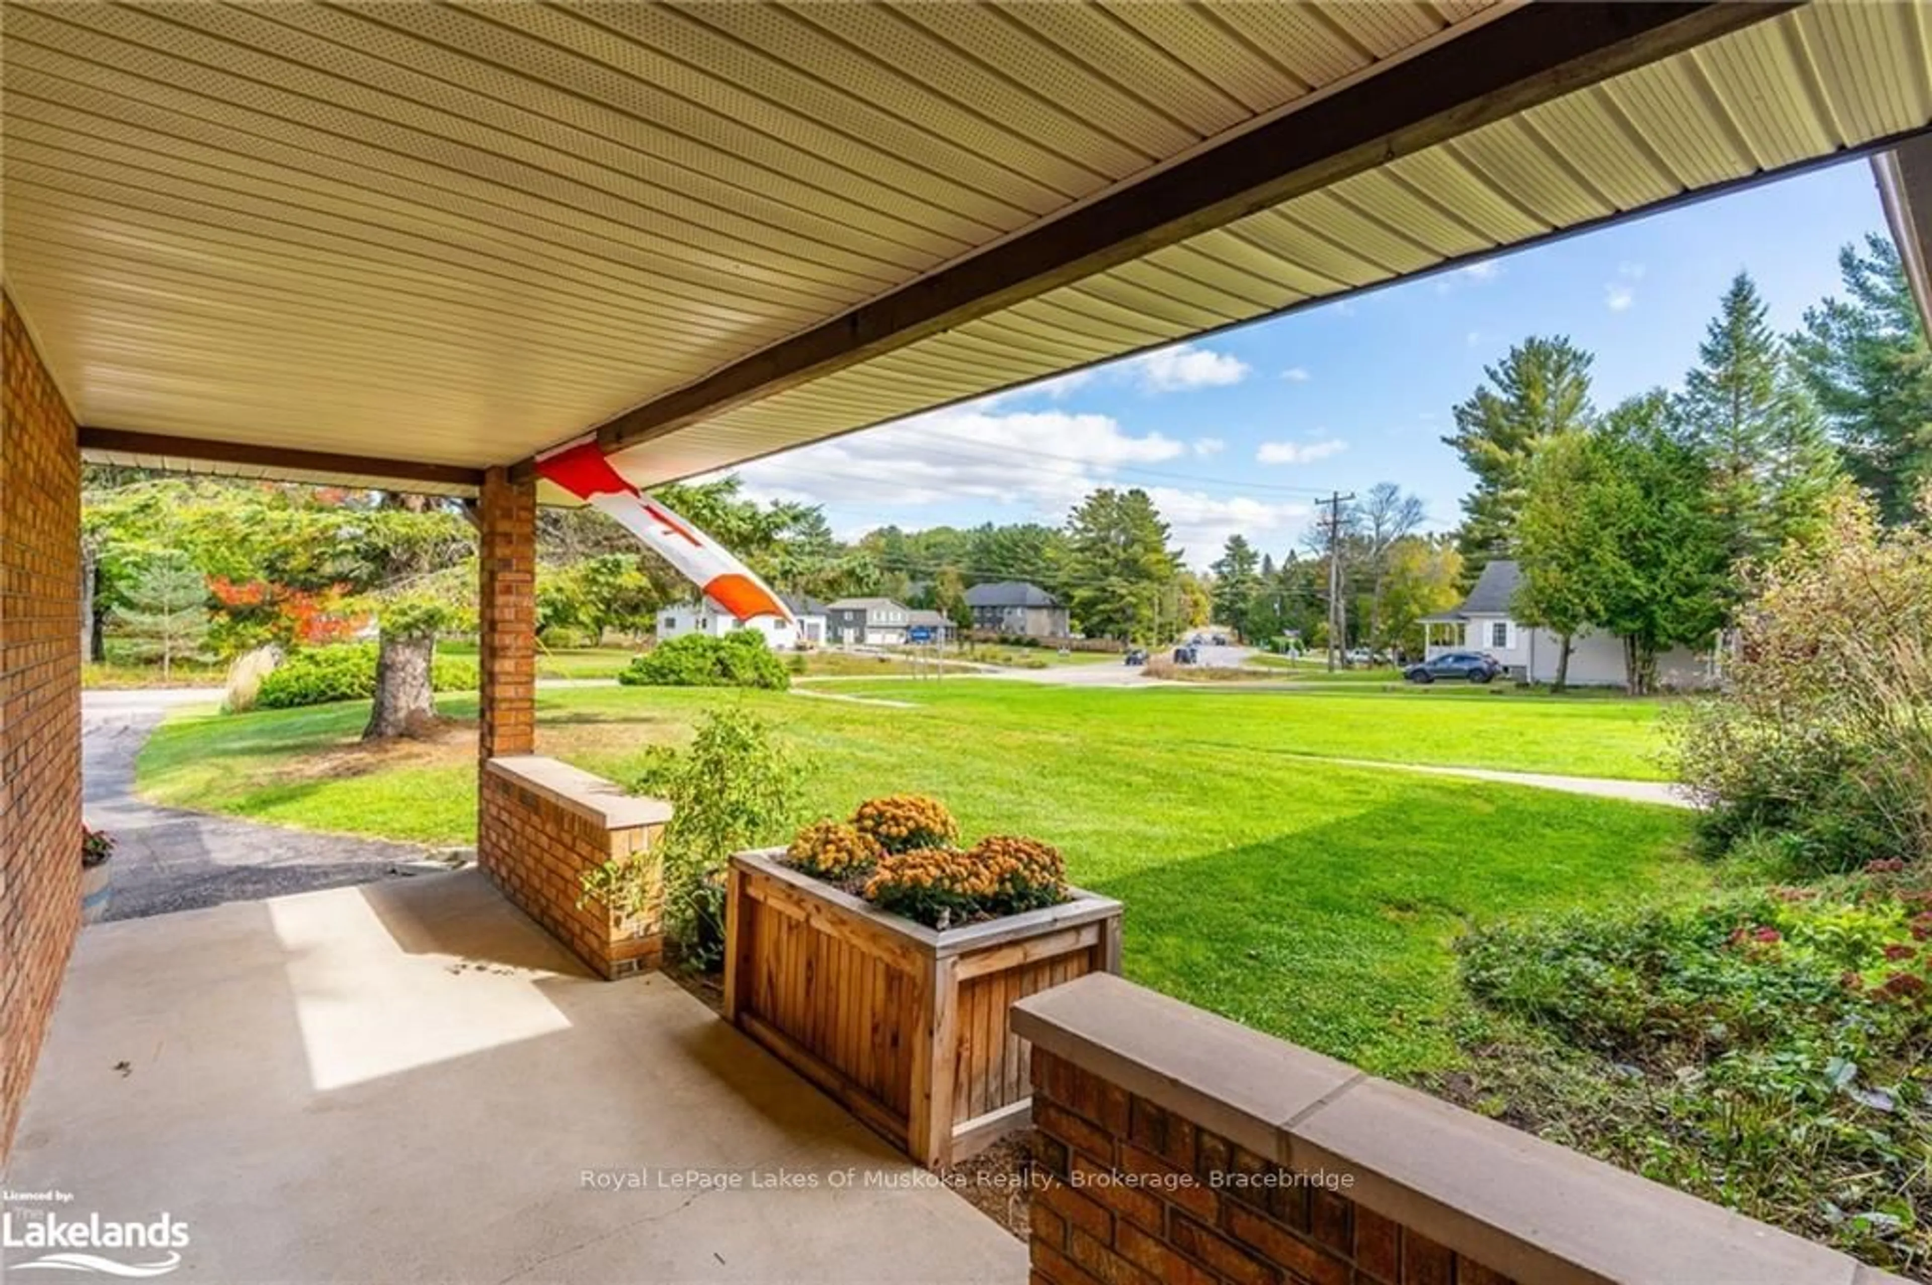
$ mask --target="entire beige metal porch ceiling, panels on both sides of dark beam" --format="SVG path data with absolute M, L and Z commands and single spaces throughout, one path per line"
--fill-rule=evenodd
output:
M 1515 19 L 1492 15 L 14 2 L 6 280 L 83 423 L 498 464 Z M 641 443 L 639 481 L 707 471 L 1861 149 L 1932 120 L 1926 25 L 1859 0 L 1756 21 L 609 441 Z

